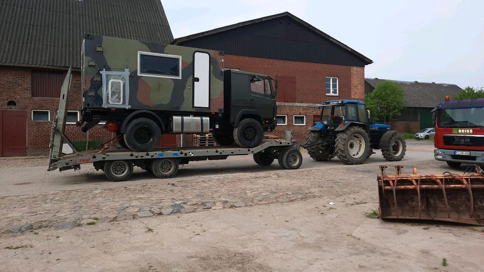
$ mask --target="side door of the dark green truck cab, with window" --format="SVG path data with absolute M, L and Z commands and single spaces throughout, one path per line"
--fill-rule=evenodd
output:
M 250 108 L 257 110 L 262 119 L 273 119 L 275 100 L 272 98 L 268 79 L 251 79 Z

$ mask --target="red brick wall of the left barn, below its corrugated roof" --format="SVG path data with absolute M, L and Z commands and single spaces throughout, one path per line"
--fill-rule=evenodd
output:
M 7 102 L 17 103 L 16 109 L 27 111 L 27 155 L 45 155 L 48 153 L 50 139 L 50 122 L 34 122 L 31 111 L 49 110 L 53 120 L 59 105 L 58 98 L 32 97 L 31 69 L 15 66 L 0 66 L 0 108 L 7 109 Z M 71 91 L 69 93 L 69 110 L 81 109 L 81 74 L 73 72 Z M 87 134 L 75 125 L 67 125 L 66 134 L 72 141 L 86 141 Z M 107 141 L 111 132 L 97 125 L 89 130 L 90 141 Z

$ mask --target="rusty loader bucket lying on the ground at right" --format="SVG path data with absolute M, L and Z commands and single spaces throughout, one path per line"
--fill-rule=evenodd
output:
M 419 219 L 484 226 L 484 173 L 386 174 L 380 166 L 378 191 L 382 219 Z

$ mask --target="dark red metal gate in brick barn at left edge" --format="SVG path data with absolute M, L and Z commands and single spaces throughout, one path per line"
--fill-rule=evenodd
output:
M 27 156 L 27 111 L 0 110 L 0 155 Z

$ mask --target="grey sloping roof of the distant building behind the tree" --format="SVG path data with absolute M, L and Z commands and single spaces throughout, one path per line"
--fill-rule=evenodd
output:
M 384 79 L 365 79 L 373 89 L 375 89 L 378 83 L 386 81 Z M 405 89 L 405 102 L 406 107 L 416 108 L 435 108 L 437 103 L 443 101 L 446 95 L 453 97 L 458 95 L 463 90 L 455 84 L 444 83 L 427 83 L 417 81 L 397 81 L 388 80 L 400 84 Z M 368 91 L 368 90 L 366 90 Z

